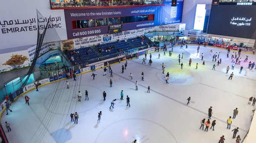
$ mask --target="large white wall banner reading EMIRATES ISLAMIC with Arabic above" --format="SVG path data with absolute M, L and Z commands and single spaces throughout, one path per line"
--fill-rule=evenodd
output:
M 45 42 L 67 39 L 64 10 L 53 11 L 49 5 L 49 0 L 15 0 L 2 3 L 0 9 L 5 12 L 0 14 L 0 39 L 5 42 L 1 43 L 0 50 L 35 45 L 38 30 L 44 29 L 55 31 L 46 33 Z M 49 25 L 46 26 L 48 21 Z

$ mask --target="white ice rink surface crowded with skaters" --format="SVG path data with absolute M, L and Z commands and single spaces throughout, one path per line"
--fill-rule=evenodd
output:
M 231 70 L 231 59 L 227 50 L 222 48 L 200 47 L 197 53 L 196 45 L 186 49 L 174 47 L 174 53 L 166 56 L 163 50 L 158 58 L 158 52 L 152 53 L 152 66 L 142 64 L 145 56 L 128 61 L 127 69 L 122 72 L 125 62 L 111 65 L 113 77 L 103 69 L 77 76 L 77 81 L 66 79 L 45 85 L 26 93 L 30 100 L 25 104 L 23 95 L 15 101 L 10 109 L 13 112 L 3 114 L 1 123 L 11 124 L 12 132 L 6 132 L 9 143 L 218 143 L 224 135 L 225 143 L 235 143 L 232 139 L 232 129 L 239 127 L 241 139 L 250 128 L 250 120 L 255 107 L 247 105 L 248 99 L 255 94 L 256 73 L 250 70 L 244 76 L 248 62 L 243 62 L 245 56 L 249 61 L 256 62 L 256 56 L 241 53 L 242 62 Z M 221 52 L 222 62 L 212 62 L 213 53 Z M 231 57 L 230 51 L 229 56 Z M 238 52 L 238 51 L 235 51 Z M 178 64 L 178 54 L 184 53 L 183 70 Z M 202 65 L 201 54 L 204 53 L 205 65 Z M 189 59 L 192 66 L 189 67 Z M 165 64 L 165 74 L 161 64 Z M 198 69 L 195 64 L 198 63 Z M 213 64 L 216 65 L 212 70 Z M 239 74 L 241 65 L 244 69 Z M 229 73 L 226 68 L 230 66 Z M 141 73 L 144 73 L 144 81 Z M 169 84 L 165 82 L 166 73 L 170 73 Z M 232 80 L 228 80 L 234 72 Z M 97 76 L 95 80 L 92 73 Z M 133 79 L 130 77 L 133 74 Z M 113 80 L 113 87 L 109 81 Z M 66 88 L 70 82 L 70 89 Z M 138 91 L 135 90 L 138 81 Z M 150 93 L 147 87 L 150 86 Z M 85 90 L 89 101 L 85 101 Z M 125 100 L 120 100 L 123 90 L 124 99 L 130 97 L 131 107 Z M 81 91 L 81 102 L 77 102 L 78 91 Z M 102 93 L 107 93 L 106 101 L 102 101 Z M 189 105 L 186 99 L 191 97 Z M 116 100 L 114 109 L 109 109 L 111 101 Z M 208 118 L 208 109 L 212 106 L 212 119 L 216 120 L 215 131 L 204 132 L 199 129 L 203 118 Z M 239 114 L 233 119 L 231 129 L 227 129 L 227 118 L 233 116 L 233 110 L 238 108 Z M 102 111 L 101 122 L 98 112 Z M 78 112 L 78 124 L 70 122 L 70 113 Z M 204 126 L 205 127 L 205 126 Z

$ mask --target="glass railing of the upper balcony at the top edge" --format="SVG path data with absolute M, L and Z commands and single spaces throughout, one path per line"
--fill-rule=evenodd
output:
M 148 0 L 148 1 L 140 1 L 140 0 L 106 0 L 106 1 L 93 1 L 93 0 L 79 0 L 79 1 L 51 1 L 52 8 L 61 8 L 61 7 L 94 7 L 94 6 L 140 6 L 140 5 L 162 5 L 162 0 Z

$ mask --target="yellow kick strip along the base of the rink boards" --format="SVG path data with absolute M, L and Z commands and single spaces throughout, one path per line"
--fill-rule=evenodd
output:
M 188 44 L 188 45 L 198 45 L 198 44 Z M 179 46 L 179 45 L 173 45 L 173 46 L 175 47 L 175 46 Z M 221 47 L 214 47 L 214 46 L 209 46 L 209 45 L 207 45 L 207 47 L 224 49 L 224 48 L 221 48 Z M 170 48 L 170 46 L 167 47 L 167 48 Z M 163 50 L 163 49 L 159 49 L 159 50 Z M 230 50 L 232 50 L 232 49 L 230 49 Z M 233 50 L 233 51 L 237 51 L 237 50 Z M 156 52 L 156 51 L 154 51 L 154 52 Z M 154 52 L 151 52 L 151 53 L 154 53 Z M 242 52 L 242 53 L 250 53 L 250 52 L 244 52 L 244 51 L 241 51 L 241 52 Z M 250 54 L 253 54 L 253 53 L 250 53 Z M 140 56 L 144 56 L 144 55 L 140 55 Z M 134 58 L 135 58 L 135 57 L 133 57 L 132 59 L 134 59 Z M 125 62 L 125 60 L 124 60 L 124 61 L 120 61 L 120 62 Z M 118 63 L 119 63 L 119 62 L 116 62 L 116 63 L 110 64 L 110 65 L 114 65 L 114 64 L 118 64 Z M 103 68 L 104 68 L 104 67 L 108 67 L 108 66 L 103 66 Z M 96 68 L 95 70 L 99 70 L 99 69 L 101 69 L 101 67 Z M 91 70 L 86 71 L 86 72 L 83 72 L 83 73 L 79 73 L 79 74 L 77 74 L 77 76 L 78 76 L 78 75 L 81 75 L 81 74 L 84 74 L 84 73 L 88 73 L 88 72 L 90 72 L 90 71 L 91 71 Z M 67 78 L 64 78 L 64 79 L 67 79 Z M 51 83 L 54 83 L 54 82 L 57 82 L 57 81 L 61 81 L 61 80 L 64 80 L 64 79 L 59 79 L 59 80 L 56 80 L 56 81 L 52 81 L 52 82 L 49 82 L 49 83 L 46 83 L 46 84 L 43 84 L 43 85 L 39 85 L 38 87 L 42 87 L 42 86 L 44 86 L 44 85 L 51 84 Z M 32 88 L 32 89 L 30 89 L 30 90 L 27 90 L 26 92 L 24 92 L 24 93 L 20 94 L 19 96 L 17 96 L 14 100 L 17 100 L 17 98 L 19 98 L 19 97 L 22 96 L 23 94 L 28 93 L 29 91 L 34 90 L 34 89 L 35 89 L 35 87 Z M 5 101 L 6 101 L 6 100 L 5 100 Z M 1 103 L 1 106 L 2 106 L 2 104 L 4 104 L 5 101 L 3 101 L 3 102 Z M 11 103 L 12 103 L 12 102 L 11 102 Z M 6 110 L 6 107 L 4 107 L 3 110 L 2 110 L 2 112 L 1 112 L 0 120 L 1 120 L 2 115 L 3 115 L 3 112 L 4 112 L 5 110 Z

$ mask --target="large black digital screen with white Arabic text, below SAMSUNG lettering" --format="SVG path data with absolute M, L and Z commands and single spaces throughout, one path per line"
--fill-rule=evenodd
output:
M 256 6 L 212 5 L 208 34 L 256 39 Z

